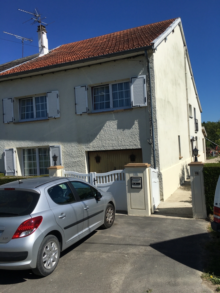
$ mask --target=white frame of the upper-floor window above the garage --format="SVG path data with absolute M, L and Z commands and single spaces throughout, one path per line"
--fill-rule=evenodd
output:
M 106 112 L 106 111 L 112 111 L 112 110 L 120 110 L 120 109 L 129 109 L 129 108 L 132 108 L 131 105 L 113 108 L 112 85 L 113 84 L 121 84 L 121 83 L 124 83 L 124 82 L 129 82 L 130 102 L 131 102 L 131 84 L 130 84 L 130 78 L 123 79 L 121 81 L 114 81 L 114 82 L 99 84 L 99 85 L 96 85 L 96 86 L 91 86 L 91 92 L 92 92 L 92 113 Z M 99 88 L 99 87 L 104 87 L 104 86 L 109 86 L 110 108 L 108 108 L 108 109 L 101 109 L 101 110 L 94 110 L 94 88 Z

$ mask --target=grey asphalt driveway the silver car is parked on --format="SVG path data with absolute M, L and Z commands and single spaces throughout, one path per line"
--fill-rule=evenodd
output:
M 0 271 L 0 292 L 153 293 L 212 292 L 200 279 L 207 222 L 116 215 L 62 253 L 55 272 Z

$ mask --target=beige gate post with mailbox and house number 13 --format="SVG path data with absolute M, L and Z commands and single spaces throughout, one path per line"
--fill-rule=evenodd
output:
M 124 166 L 128 214 L 150 216 L 150 180 L 148 163 L 129 163 Z

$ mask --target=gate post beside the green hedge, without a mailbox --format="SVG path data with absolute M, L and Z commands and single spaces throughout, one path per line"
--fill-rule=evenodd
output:
M 202 162 L 191 162 L 188 164 L 190 169 L 190 181 L 192 191 L 192 213 L 195 219 L 206 219 L 206 202 L 204 193 L 204 179 Z

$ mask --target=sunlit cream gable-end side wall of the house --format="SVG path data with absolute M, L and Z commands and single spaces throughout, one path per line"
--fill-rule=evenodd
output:
M 187 164 L 191 161 L 187 125 L 184 44 L 178 26 L 167 36 L 166 42 L 164 40 L 158 45 L 154 54 L 154 69 L 160 171 L 163 175 L 163 197 L 166 200 L 189 176 Z M 188 63 L 187 81 L 189 103 L 191 101 L 191 105 L 196 108 L 199 124 L 199 132 L 196 134 L 198 147 L 199 150 L 202 150 L 201 114 Z M 192 122 L 193 128 L 191 127 L 190 133 L 195 137 L 194 120 Z M 179 158 L 178 135 L 181 143 L 181 159 Z

